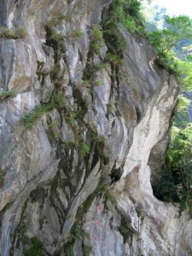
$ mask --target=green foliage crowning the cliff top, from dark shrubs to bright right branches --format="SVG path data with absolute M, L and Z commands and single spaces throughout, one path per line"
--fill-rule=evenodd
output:
M 138 0 L 115 0 L 110 9 L 110 17 L 107 24 L 108 33 L 113 34 L 116 38 L 115 44 L 121 49 L 125 40 L 120 35 L 118 25 L 123 25 L 129 32 L 137 36 L 143 35 L 148 37 L 151 44 L 155 46 L 158 52 L 157 64 L 160 67 L 166 68 L 169 73 L 173 73 L 179 79 L 182 90 L 192 89 L 192 72 L 191 58 L 179 59 L 178 45 L 184 40 L 192 39 L 192 20 L 186 15 L 170 17 L 165 15 L 162 19 L 162 12 L 165 9 L 160 9 L 160 14 L 156 10 L 156 20 L 162 23 L 162 29 L 157 29 L 158 23 L 154 22 L 153 30 L 148 31 L 150 26 L 143 15 L 143 1 Z M 150 2 L 150 1 L 148 1 Z M 96 32 L 96 30 L 95 30 Z M 99 34 L 100 35 L 100 34 Z M 112 39 L 112 38 L 111 38 Z M 99 42 L 102 42 L 102 35 Z M 181 44 L 182 45 L 182 44 Z M 175 50 L 177 49 L 177 51 Z M 185 51 L 187 49 L 184 49 Z M 182 49 L 180 50 L 180 52 Z M 115 60 L 116 61 L 116 60 Z

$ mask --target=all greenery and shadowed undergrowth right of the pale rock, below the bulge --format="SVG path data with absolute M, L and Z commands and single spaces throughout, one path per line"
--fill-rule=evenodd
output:
M 184 96 L 179 96 L 166 164 L 154 183 L 154 195 L 160 200 L 179 202 L 180 211 L 186 210 L 192 215 L 192 125 L 187 116 L 189 103 Z

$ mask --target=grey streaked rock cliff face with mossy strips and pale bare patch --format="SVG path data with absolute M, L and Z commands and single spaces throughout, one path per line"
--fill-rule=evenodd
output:
M 191 220 L 150 183 L 177 80 L 121 26 L 123 58 L 108 55 L 119 46 L 101 38 L 111 3 L 0 2 L 3 256 L 192 254 Z

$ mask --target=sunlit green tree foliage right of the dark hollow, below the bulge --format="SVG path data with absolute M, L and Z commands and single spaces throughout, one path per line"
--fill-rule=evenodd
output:
M 182 210 L 192 214 L 192 125 L 172 128 L 172 140 L 166 153 L 166 173 L 174 179 L 174 193 Z

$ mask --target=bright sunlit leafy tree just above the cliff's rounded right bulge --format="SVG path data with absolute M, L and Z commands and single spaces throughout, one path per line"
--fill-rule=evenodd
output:
M 169 73 L 177 76 L 182 90 L 191 90 L 191 60 L 186 57 L 181 60 L 178 57 L 178 44 L 183 40 L 192 39 L 192 20 L 185 15 L 177 17 L 166 15 L 164 28 L 149 32 L 148 39 L 157 49 L 159 66 L 165 67 Z

